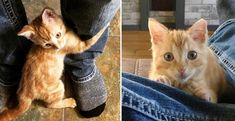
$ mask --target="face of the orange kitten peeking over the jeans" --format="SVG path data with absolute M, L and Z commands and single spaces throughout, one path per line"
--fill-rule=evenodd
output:
M 188 31 L 171 31 L 150 19 L 153 63 L 158 74 L 186 82 L 203 73 L 208 51 L 206 26 L 205 20 L 199 20 Z

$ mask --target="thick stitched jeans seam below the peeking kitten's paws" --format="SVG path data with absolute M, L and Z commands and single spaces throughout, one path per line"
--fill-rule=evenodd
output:
M 152 104 L 150 104 L 151 107 L 150 108 L 148 107 L 148 112 L 146 112 L 144 110 L 143 102 L 147 101 L 147 100 L 144 100 L 144 97 L 138 95 L 139 97 L 141 97 L 142 103 L 140 103 L 140 104 L 142 106 L 138 105 L 138 107 L 136 107 L 132 104 L 133 100 L 134 100 L 133 99 L 134 96 L 131 96 L 131 95 L 136 95 L 137 96 L 137 94 L 134 94 L 134 92 L 133 92 L 133 94 L 131 94 L 132 91 L 128 90 L 128 91 L 130 91 L 130 92 L 128 92 L 128 91 L 125 91 L 125 90 L 128 90 L 128 89 L 123 87 L 122 100 L 123 100 L 124 96 L 127 96 L 127 97 L 129 97 L 129 100 L 130 100 L 131 103 L 128 104 L 128 102 L 125 103 L 123 101 L 122 106 L 134 109 L 134 110 L 136 110 L 140 113 L 143 113 L 143 114 L 145 114 L 145 115 L 147 115 L 147 116 L 149 116 L 149 117 L 151 117 L 155 120 L 162 120 L 161 118 L 163 118 L 163 117 L 166 118 L 166 119 L 171 119 L 171 120 L 175 119 L 175 120 L 182 120 L 182 121 L 184 121 L 184 120 L 202 120 L 202 119 L 204 119 L 203 117 L 198 116 L 198 115 L 189 115 L 189 114 L 185 114 L 183 112 L 177 112 L 176 113 L 175 111 L 167 110 L 167 109 L 161 109 L 161 111 L 159 111 L 160 108 L 157 107 L 156 105 L 154 105 L 153 102 L 152 102 Z M 128 93 L 130 93 L 130 94 L 128 94 Z M 137 102 L 141 102 L 141 101 L 137 101 Z M 147 101 L 147 103 L 151 103 L 151 101 Z M 155 115 L 153 115 L 153 112 L 154 112 Z

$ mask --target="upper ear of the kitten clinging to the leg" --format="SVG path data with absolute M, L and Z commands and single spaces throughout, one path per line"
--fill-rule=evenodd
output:
M 56 18 L 57 14 L 53 9 L 45 8 L 42 12 L 42 21 L 44 24 L 49 24 Z

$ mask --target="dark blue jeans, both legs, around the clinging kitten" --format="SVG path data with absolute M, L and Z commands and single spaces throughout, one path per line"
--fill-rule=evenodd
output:
M 111 21 L 119 4 L 119 0 L 61 0 L 61 13 L 66 25 L 86 40 Z M 0 0 L 0 85 L 13 86 L 21 78 L 22 66 L 32 43 L 16 33 L 26 24 L 21 0 Z M 92 73 L 94 59 L 102 53 L 107 37 L 108 30 L 86 52 L 66 57 L 65 68 L 74 79 Z

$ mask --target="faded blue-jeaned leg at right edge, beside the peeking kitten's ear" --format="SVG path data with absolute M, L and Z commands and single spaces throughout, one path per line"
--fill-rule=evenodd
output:
M 235 89 L 235 1 L 217 0 L 216 4 L 221 25 L 209 38 L 208 45 L 224 67 L 226 80 Z

